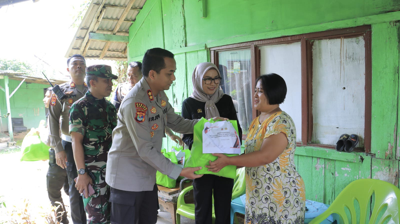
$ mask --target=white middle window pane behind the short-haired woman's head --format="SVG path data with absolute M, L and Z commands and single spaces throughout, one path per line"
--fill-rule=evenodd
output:
M 301 48 L 300 42 L 261 46 L 261 74 L 276 73 L 286 82 L 286 98 L 280 108 L 296 126 L 296 140 L 301 142 Z

